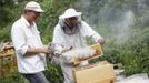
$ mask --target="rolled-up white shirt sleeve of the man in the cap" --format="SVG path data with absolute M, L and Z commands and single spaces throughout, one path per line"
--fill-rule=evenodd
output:
M 13 24 L 11 29 L 11 39 L 17 53 L 24 54 L 28 45 L 26 43 L 26 37 L 20 25 Z

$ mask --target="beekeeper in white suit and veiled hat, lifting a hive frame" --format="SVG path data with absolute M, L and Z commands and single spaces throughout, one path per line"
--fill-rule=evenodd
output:
M 103 44 L 105 40 L 96 31 L 93 31 L 85 21 L 81 21 L 81 12 L 77 12 L 74 9 L 69 8 L 66 12 L 59 17 L 59 22 L 54 28 L 52 43 L 56 44 L 56 52 L 61 53 L 62 51 L 71 49 L 80 49 L 87 46 L 87 38 L 92 41 Z M 82 65 L 88 64 L 87 61 L 81 63 Z M 60 62 L 64 82 L 74 83 L 72 76 L 71 64 Z

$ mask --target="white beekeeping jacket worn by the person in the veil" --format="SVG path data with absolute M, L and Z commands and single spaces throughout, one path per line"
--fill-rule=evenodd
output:
M 57 50 L 85 48 L 87 46 L 87 38 L 91 38 L 95 42 L 102 39 L 102 37 L 93 31 L 85 21 L 79 22 L 79 32 L 72 35 L 66 34 L 62 29 L 63 21 L 63 19 L 60 19 L 53 32 L 52 43 L 57 44 Z

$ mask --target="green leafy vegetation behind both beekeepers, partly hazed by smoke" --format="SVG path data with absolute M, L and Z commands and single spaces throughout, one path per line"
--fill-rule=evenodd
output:
M 0 40 L 11 41 L 11 24 L 20 18 L 30 0 L 0 0 Z M 82 20 L 99 32 L 107 43 L 105 56 L 110 63 L 122 63 L 126 75 L 149 74 L 149 0 L 36 0 L 44 9 L 38 21 L 44 44 L 52 40 L 58 17 L 69 7 L 82 12 Z M 59 65 L 49 63 L 44 72 L 51 83 L 62 83 Z M 23 83 L 17 69 L 2 76 L 1 83 Z

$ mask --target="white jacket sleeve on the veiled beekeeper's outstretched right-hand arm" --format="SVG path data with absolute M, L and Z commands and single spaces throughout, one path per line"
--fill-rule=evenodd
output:
M 102 39 L 102 37 L 99 33 L 97 33 L 95 30 L 92 30 L 91 27 L 88 25 L 83 21 L 82 21 L 81 33 L 83 34 L 83 37 L 91 38 L 95 42 L 98 42 L 98 40 Z

